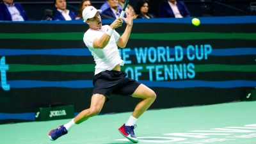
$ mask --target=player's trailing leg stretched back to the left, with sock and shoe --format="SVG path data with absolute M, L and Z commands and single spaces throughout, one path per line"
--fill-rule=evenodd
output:
M 105 101 L 106 101 L 106 97 L 104 97 L 104 95 L 94 94 L 92 96 L 90 108 L 85 109 L 84 111 L 81 111 L 81 113 L 79 113 L 75 118 L 73 118 L 67 124 L 60 125 L 57 129 L 52 129 L 49 132 L 50 140 L 52 140 L 52 141 L 57 140 L 64 134 L 67 134 L 68 129 L 70 129 L 70 127 L 72 127 L 72 125 L 81 124 L 81 122 L 88 120 L 88 118 L 98 115 L 100 113 Z

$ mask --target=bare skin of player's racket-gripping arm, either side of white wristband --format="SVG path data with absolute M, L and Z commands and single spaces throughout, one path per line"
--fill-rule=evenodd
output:
M 108 31 L 111 31 L 115 28 L 122 26 L 122 23 L 123 23 L 122 19 L 123 18 L 117 18 L 114 22 L 112 22 L 112 24 L 110 25 L 111 29 L 108 29 Z M 104 47 L 108 45 L 110 38 L 111 38 L 111 35 L 104 33 L 104 35 L 102 35 L 100 38 L 95 38 L 93 40 L 93 47 L 95 49 L 104 49 Z

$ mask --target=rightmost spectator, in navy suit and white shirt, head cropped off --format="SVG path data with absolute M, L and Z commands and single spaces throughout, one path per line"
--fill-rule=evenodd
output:
M 190 13 L 183 1 L 168 0 L 161 4 L 160 17 L 190 17 Z

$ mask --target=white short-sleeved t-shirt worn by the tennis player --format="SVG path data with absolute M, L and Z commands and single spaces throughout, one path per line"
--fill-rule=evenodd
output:
M 105 70 L 112 70 L 116 65 L 124 65 L 124 61 L 121 60 L 118 47 L 116 42 L 119 40 L 120 35 L 114 30 L 113 35 L 111 36 L 108 45 L 104 49 L 95 49 L 93 47 L 93 40 L 104 35 L 104 33 L 110 29 L 108 25 L 102 26 L 101 29 L 93 30 L 88 29 L 84 33 L 84 44 L 88 47 L 89 51 L 92 53 L 95 66 L 95 74 L 104 72 Z

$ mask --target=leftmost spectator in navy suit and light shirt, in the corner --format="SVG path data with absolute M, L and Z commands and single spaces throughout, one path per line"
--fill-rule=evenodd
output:
M 21 4 L 13 3 L 13 0 L 3 0 L 0 4 L 0 20 L 24 21 L 29 20 L 28 15 Z

